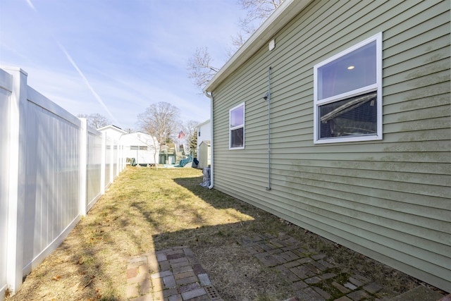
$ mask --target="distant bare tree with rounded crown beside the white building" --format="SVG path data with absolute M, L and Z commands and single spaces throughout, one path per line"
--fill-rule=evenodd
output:
M 156 156 L 156 149 L 172 140 L 177 133 L 180 110 L 168 102 L 157 102 L 151 104 L 144 113 L 137 116 L 140 129 L 156 139 L 153 141 Z M 155 161 L 155 166 L 157 166 Z

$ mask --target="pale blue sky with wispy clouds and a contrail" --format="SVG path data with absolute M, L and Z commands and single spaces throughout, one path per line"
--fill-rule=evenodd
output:
M 227 61 L 245 11 L 235 0 L 0 0 L 0 66 L 72 113 L 100 113 L 120 128 L 168 102 L 183 121 L 209 118 L 209 99 L 187 77 L 208 47 Z

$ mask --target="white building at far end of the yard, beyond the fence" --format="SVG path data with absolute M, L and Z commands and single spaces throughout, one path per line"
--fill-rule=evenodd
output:
M 158 161 L 160 147 L 152 135 L 135 132 L 121 135 L 119 142 L 124 147 L 124 157 L 128 159 L 127 164 L 135 159 L 136 164 L 155 164 Z

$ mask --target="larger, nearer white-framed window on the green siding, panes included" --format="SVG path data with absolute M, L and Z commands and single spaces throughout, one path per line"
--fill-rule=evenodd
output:
M 382 139 L 382 34 L 314 66 L 314 142 Z

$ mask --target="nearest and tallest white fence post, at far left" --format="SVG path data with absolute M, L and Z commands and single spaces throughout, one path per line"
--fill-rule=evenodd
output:
M 6 238 L 6 285 L 16 293 L 23 277 L 23 229 L 25 212 L 25 106 L 27 73 L 20 68 L 5 68 L 13 75 L 9 110 L 9 185 L 8 234 Z

